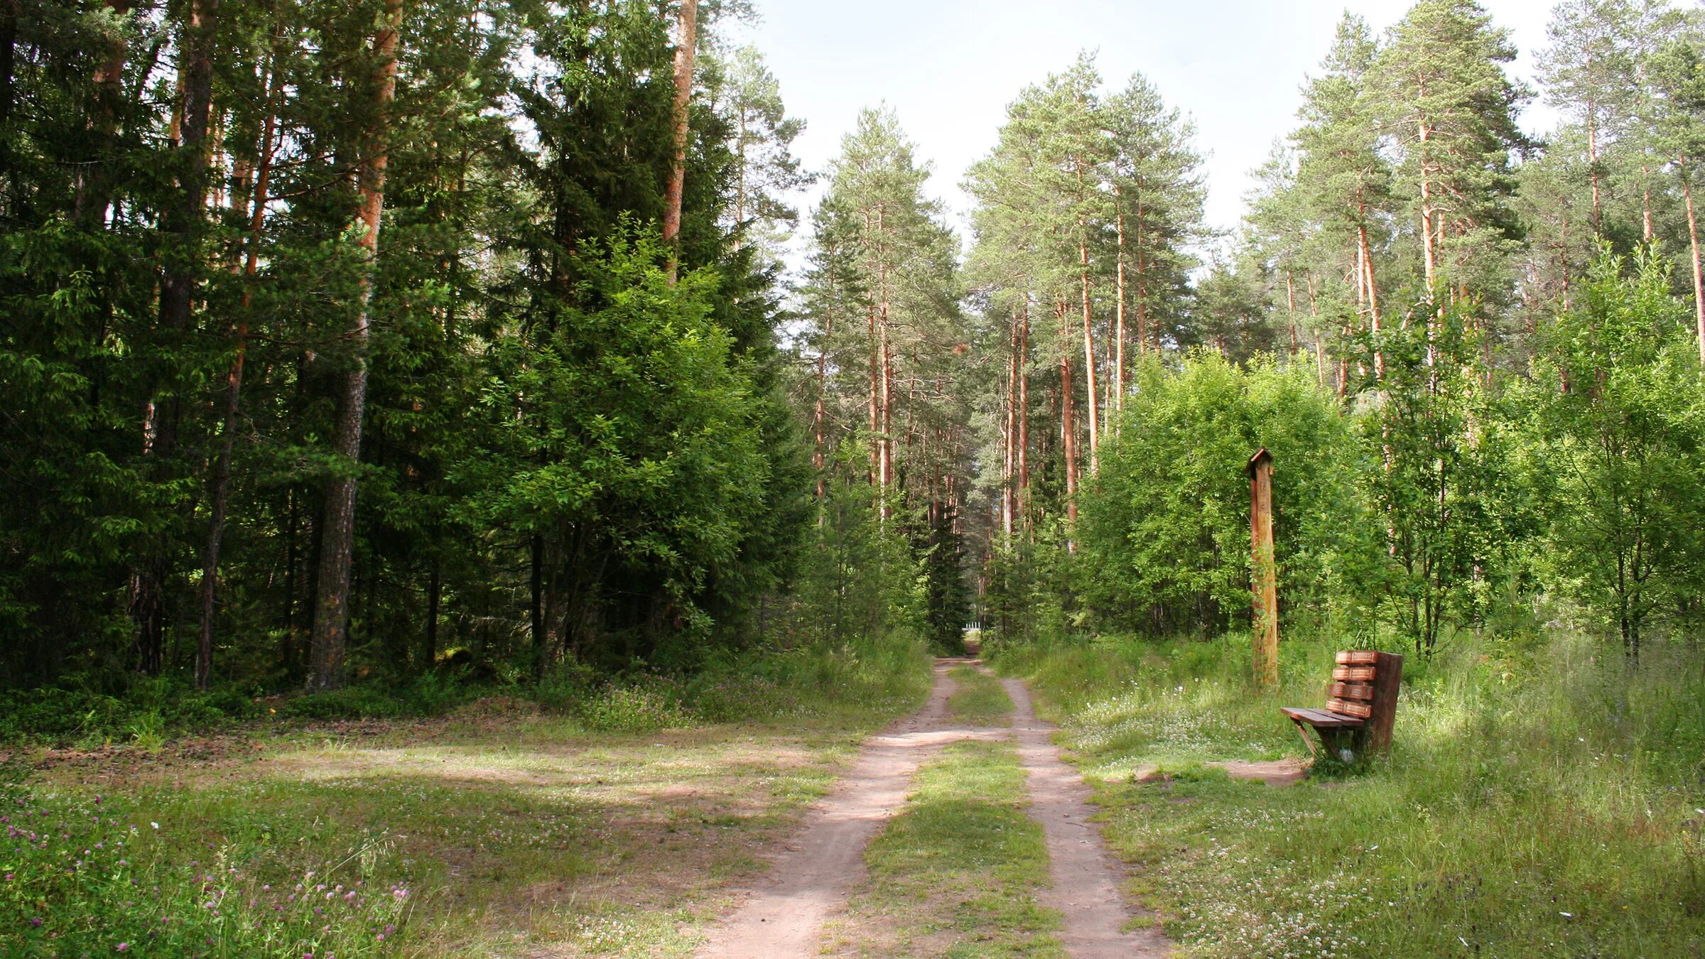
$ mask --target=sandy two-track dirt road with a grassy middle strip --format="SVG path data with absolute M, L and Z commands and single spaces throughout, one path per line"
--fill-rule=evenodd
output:
M 815 956 L 824 921 L 844 908 L 864 875 L 864 850 L 905 807 L 912 775 L 946 744 L 965 739 L 1016 741 L 1030 792 L 1028 814 L 1043 831 L 1049 887 L 1040 904 L 1062 916 L 1059 940 L 1074 957 L 1166 956 L 1158 930 L 1125 933 L 1130 920 L 1118 872 L 1089 821 L 1089 788 L 1054 746 L 1052 727 L 1037 718 L 1023 683 L 1003 683 L 1013 700 L 1008 727 L 972 727 L 948 710 L 955 683 L 948 671 L 965 659 L 941 659 L 922 710 L 873 735 L 844 780 L 817 804 L 784 843 L 769 874 L 737 894 L 735 911 L 697 952 L 701 959 L 796 959 Z

